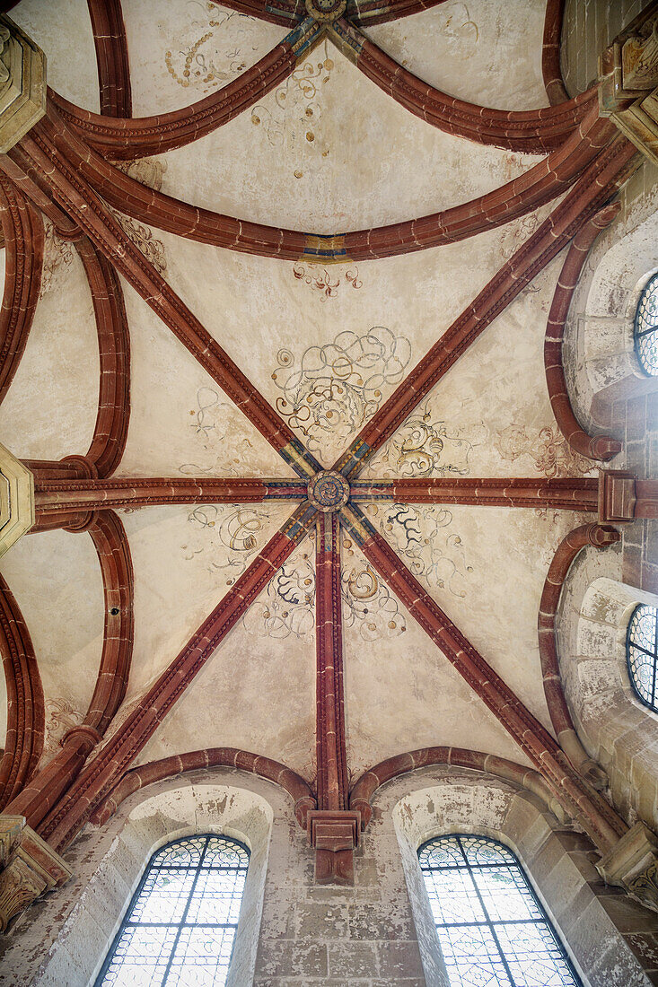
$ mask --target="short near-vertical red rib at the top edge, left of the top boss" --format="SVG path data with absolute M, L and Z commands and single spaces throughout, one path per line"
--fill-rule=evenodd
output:
M 130 116 L 130 68 L 121 0 L 87 0 L 96 45 L 101 113 Z

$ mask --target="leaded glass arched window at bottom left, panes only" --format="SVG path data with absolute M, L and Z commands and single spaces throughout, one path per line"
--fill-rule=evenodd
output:
M 153 854 L 96 987 L 223 987 L 249 851 L 191 836 Z

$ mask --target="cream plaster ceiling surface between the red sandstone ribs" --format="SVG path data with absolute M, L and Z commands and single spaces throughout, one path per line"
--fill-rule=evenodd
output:
M 488 0 L 449 2 L 371 29 L 371 37 L 449 93 L 494 107 L 531 109 L 546 104 L 540 73 L 543 10 L 542 0 L 511 0 L 495 12 Z M 285 35 L 241 15 L 229 17 L 201 0 L 123 0 L 123 11 L 135 115 L 201 99 Z M 85 0 L 23 0 L 12 17 L 44 48 L 53 88 L 97 110 Z M 182 86 L 176 76 L 182 77 L 187 54 L 206 35 L 195 49 L 200 57 L 193 59 L 191 84 Z M 457 204 L 510 181 L 537 160 L 432 128 L 381 93 L 330 44 L 325 50 L 322 42 L 308 64 L 284 87 L 284 100 L 271 93 L 253 113 L 186 148 L 131 165 L 129 173 L 229 215 L 337 232 Z M 368 391 L 369 378 L 355 357 L 354 404 L 348 408 L 337 399 L 331 429 L 314 425 L 306 434 L 290 422 L 329 465 L 546 212 L 464 243 L 327 268 L 241 256 L 156 229 L 136 229 L 140 224 L 133 223 L 131 232 L 137 241 L 149 241 L 174 290 L 282 414 L 291 387 L 301 393 L 312 387 L 312 360 L 304 355 L 310 347 L 326 347 L 325 354 L 343 347 L 354 356 L 370 334 L 370 343 L 374 340 L 383 354 L 377 395 Z M 428 429 L 444 441 L 432 475 L 442 475 L 446 467 L 464 476 L 550 476 L 587 468 L 565 451 L 543 379 L 541 345 L 559 264 L 553 262 L 535 279 L 419 409 Z M 118 474 L 290 476 L 183 345 L 128 285 L 123 288 L 132 409 Z M 306 372 L 295 377 L 300 368 Z M 2 441 L 24 457 L 85 452 L 97 387 L 98 346 L 84 271 L 70 246 L 49 234 L 35 324 L 0 409 Z M 367 476 L 418 470 L 400 455 L 403 437 L 402 430 L 372 461 Z M 135 576 L 126 704 L 173 659 L 290 510 L 257 504 L 205 512 L 187 507 L 121 512 Z M 390 522 L 383 505 L 373 520 L 381 521 L 383 533 L 403 557 L 406 553 L 449 616 L 548 725 L 536 647 L 538 598 L 554 549 L 581 518 L 494 508 L 413 510 L 426 559 L 414 557 L 416 549 L 401 540 L 404 518 Z M 256 548 L 228 548 L 222 532 L 231 524 L 252 534 Z M 344 544 L 343 554 L 351 772 L 439 743 L 523 761 L 402 605 L 390 603 L 378 581 L 373 588 L 359 551 Z M 63 532 L 30 536 L 3 560 L 2 571 L 33 635 L 46 701 L 52 706 L 66 698 L 71 716 L 81 717 L 102 644 L 102 587 L 91 541 Z M 142 752 L 142 761 L 206 746 L 238 746 L 312 777 L 310 540 L 295 550 L 288 575 L 286 587 L 273 583 L 265 590 L 217 648 Z M 363 593 L 372 601 L 366 614 Z M 400 622 L 405 630 L 398 633 Z

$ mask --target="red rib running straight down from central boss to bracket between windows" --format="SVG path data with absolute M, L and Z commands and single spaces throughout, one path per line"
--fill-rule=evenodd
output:
M 338 516 L 318 511 L 315 539 L 317 807 L 333 810 L 348 807 L 339 537 Z

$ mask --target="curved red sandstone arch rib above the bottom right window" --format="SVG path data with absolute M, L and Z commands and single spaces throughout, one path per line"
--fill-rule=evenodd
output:
M 366 829 L 372 816 L 372 796 L 377 789 L 392 778 L 406 775 L 419 768 L 429 768 L 434 764 L 449 764 L 456 768 L 470 768 L 472 771 L 486 771 L 506 782 L 512 782 L 538 796 L 548 809 L 553 808 L 555 797 L 541 775 L 532 768 L 525 768 L 515 761 L 496 754 L 485 754 L 479 750 L 465 750 L 463 747 L 420 747 L 405 754 L 396 754 L 380 761 L 357 780 L 350 793 L 350 808 L 361 812 L 362 829 Z

